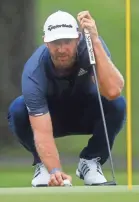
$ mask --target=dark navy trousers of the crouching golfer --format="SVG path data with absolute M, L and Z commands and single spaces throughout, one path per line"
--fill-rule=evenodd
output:
M 92 95 L 86 96 L 84 100 L 85 102 L 73 102 L 72 107 L 68 108 L 67 111 L 63 110 L 61 113 L 52 111 L 54 137 L 72 134 L 93 134 L 87 146 L 81 151 L 80 158 L 92 159 L 100 157 L 100 163 L 104 164 L 109 154 L 96 91 Z M 125 123 L 126 102 L 123 96 L 112 101 L 102 97 L 102 102 L 110 148 L 112 149 L 115 137 Z M 8 123 L 12 133 L 17 136 L 19 142 L 33 154 L 33 164 L 40 162 L 34 145 L 33 133 L 23 96 L 16 98 L 11 103 L 8 111 Z M 67 143 L 67 147 L 69 146 Z

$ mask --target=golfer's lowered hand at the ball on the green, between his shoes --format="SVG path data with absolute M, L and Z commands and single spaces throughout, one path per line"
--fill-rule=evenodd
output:
M 72 177 L 70 175 L 65 174 L 64 172 L 57 171 L 54 174 L 50 175 L 50 181 L 48 183 L 49 186 L 64 186 L 64 180 L 72 181 Z

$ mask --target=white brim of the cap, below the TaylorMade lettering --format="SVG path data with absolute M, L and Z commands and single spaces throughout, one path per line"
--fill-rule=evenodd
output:
M 76 33 L 76 34 L 60 34 L 59 36 L 56 35 L 52 35 L 50 37 L 47 37 L 47 36 L 44 36 L 44 42 L 52 42 L 52 41 L 55 41 L 55 40 L 58 40 L 58 39 L 77 39 L 79 37 L 79 33 Z

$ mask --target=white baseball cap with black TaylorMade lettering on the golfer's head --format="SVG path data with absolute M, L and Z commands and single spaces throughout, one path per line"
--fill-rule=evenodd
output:
M 78 23 L 69 13 L 57 11 L 51 14 L 44 24 L 44 42 L 79 37 Z

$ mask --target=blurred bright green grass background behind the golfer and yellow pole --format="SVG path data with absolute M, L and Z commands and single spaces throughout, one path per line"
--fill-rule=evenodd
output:
M 132 136 L 133 136 L 133 155 L 138 156 L 138 103 L 139 93 L 137 92 L 139 67 L 138 47 L 139 47 L 139 1 L 131 1 L 132 11 Z M 103 37 L 112 55 L 112 60 L 121 73 L 124 75 L 126 82 L 126 50 L 125 50 L 125 0 L 86 0 L 86 1 L 64 1 L 53 0 L 47 3 L 46 0 L 36 1 L 36 41 L 37 44 L 42 42 L 42 29 L 45 19 L 49 14 L 57 10 L 66 10 L 75 17 L 82 10 L 89 10 L 96 20 L 99 35 Z M 123 91 L 125 95 L 125 89 Z M 88 136 L 66 137 L 57 140 L 60 152 L 79 153 L 86 146 Z M 68 148 L 66 144 L 68 143 Z M 113 153 L 117 156 L 126 156 L 126 126 L 116 139 Z

